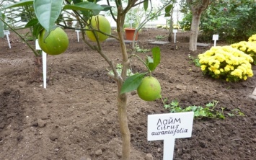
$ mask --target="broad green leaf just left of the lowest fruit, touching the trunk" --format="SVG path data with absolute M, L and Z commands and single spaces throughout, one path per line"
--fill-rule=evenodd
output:
M 141 84 L 142 79 L 144 78 L 145 74 L 134 74 L 133 76 L 129 76 L 124 82 L 121 88 L 120 94 L 131 92 L 136 90 L 138 86 Z

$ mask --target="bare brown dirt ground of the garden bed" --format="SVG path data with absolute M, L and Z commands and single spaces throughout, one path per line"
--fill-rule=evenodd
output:
M 0 39 L 0 159 L 121 159 L 117 85 L 107 76 L 104 59 L 81 40 L 77 42 L 76 32 L 66 32 L 70 40 L 66 53 L 48 56 L 47 89 L 27 45 L 13 32 L 11 49 L 6 38 Z M 143 30 L 138 44 L 153 48 L 148 43 L 156 35 L 166 36 L 167 30 Z M 187 32 L 178 32 L 177 50 L 174 43 L 159 45 L 162 61 L 153 75 L 162 85 L 162 97 L 169 102 L 177 99 L 182 107 L 217 100 L 226 118 L 194 120 L 192 137 L 176 139 L 174 159 L 254 160 L 256 101 L 248 96 L 255 88 L 255 76 L 238 83 L 203 76 L 187 55 L 198 55 L 211 46 L 190 53 L 188 40 Z M 120 63 L 117 41 L 107 40 L 102 48 Z M 145 58 L 150 53 L 138 55 Z M 136 59 L 131 68 L 146 71 Z M 234 109 L 244 116 L 227 115 Z M 168 111 L 161 100 L 145 102 L 135 92 L 128 93 L 131 159 L 162 159 L 163 142 L 147 141 L 147 115 L 164 112 Z

